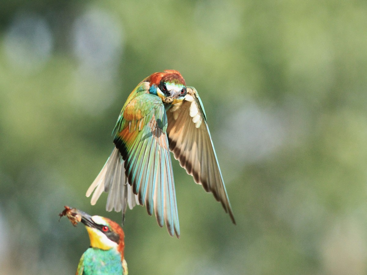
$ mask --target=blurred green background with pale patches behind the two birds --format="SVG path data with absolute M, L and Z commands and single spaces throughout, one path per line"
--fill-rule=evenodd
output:
M 74 274 L 85 192 L 145 77 L 203 100 L 237 225 L 174 161 L 181 238 L 127 210 L 129 274 L 367 274 L 367 1 L 10 1 L 0 274 Z

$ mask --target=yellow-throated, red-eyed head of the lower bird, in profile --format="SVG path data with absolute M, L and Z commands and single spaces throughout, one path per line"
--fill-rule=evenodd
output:
M 86 225 L 91 247 L 109 250 L 115 247 L 124 259 L 124 231 L 119 224 L 101 216 L 90 216 L 80 211 L 81 222 Z

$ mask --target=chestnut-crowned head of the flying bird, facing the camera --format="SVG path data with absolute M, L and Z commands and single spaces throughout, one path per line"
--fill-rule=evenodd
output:
M 144 81 L 149 81 L 149 92 L 159 96 L 164 103 L 179 103 L 185 98 L 187 93 L 185 80 L 175 70 L 153 73 Z

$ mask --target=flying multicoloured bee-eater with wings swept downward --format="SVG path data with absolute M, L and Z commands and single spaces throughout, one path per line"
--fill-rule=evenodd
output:
M 87 190 L 94 205 L 109 192 L 106 210 L 146 205 L 160 227 L 179 238 L 179 222 L 170 151 L 186 172 L 222 203 L 235 224 L 206 114 L 197 91 L 186 87 L 178 71 L 145 78 L 128 96 L 115 129 L 115 148 Z

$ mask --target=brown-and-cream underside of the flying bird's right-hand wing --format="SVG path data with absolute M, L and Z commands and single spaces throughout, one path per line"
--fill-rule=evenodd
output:
M 232 208 L 219 168 L 201 99 L 193 87 L 187 87 L 185 99 L 167 111 L 167 134 L 175 159 L 222 203 L 234 224 Z

